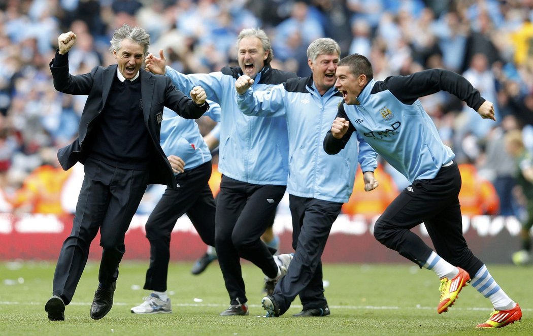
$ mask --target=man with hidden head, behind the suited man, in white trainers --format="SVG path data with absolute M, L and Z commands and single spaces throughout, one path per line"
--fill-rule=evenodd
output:
M 210 102 L 204 114 L 220 120 L 220 106 Z M 150 242 L 150 266 L 144 289 L 152 293 L 141 305 L 131 308 L 135 314 L 172 313 L 167 295 L 170 238 L 177 219 L 187 214 L 198 235 L 208 245 L 215 243 L 215 201 L 208 181 L 211 178 L 211 152 L 193 119 L 185 119 L 163 109 L 161 148 L 174 171 L 177 188 L 166 188 L 146 222 Z

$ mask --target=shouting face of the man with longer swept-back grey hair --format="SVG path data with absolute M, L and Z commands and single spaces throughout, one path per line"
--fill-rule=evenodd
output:
M 244 37 L 237 48 L 238 61 L 243 74 L 255 78 L 264 66 L 268 51 L 263 49 L 261 40 L 257 37 Z

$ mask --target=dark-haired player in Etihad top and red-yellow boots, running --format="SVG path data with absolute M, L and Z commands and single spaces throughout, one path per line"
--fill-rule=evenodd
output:
M 461 175 L 453 161 L 455 154 L 442 143 L 418 98 L 447 91 L 482 118 L 495 120 L 492 103 L 464 77 L 448 70 L 430 69 L 375 81 L 372 65 L 359 54 L 343 58 L 336 75 L 335 87 L 344 104 L 324 139 L 324 149 L 328 154 L 339 153 L 356 132 L 411 183 L 376 221 L 377 241 L 439 276 L 439 314 L 454 304 L 470 282 L 494 306 L 488 321 L 478 328 L 520 321 L 518 303 L 507 296 L 466 244 L 458 198 Z M 422 222 L 435 251 L 410 231 Z

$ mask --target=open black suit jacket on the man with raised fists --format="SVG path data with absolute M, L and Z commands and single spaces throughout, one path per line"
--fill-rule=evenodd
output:
M 69 74 L 68 65 L 54 67 L 53 63 L 52 60 L 50 70 L 56 90 L 68 94 L 88 95 L 78 126 L 78 137 L 70 145 L 58 151 L 61 167 L 63 170 L 68 170 L 76 162 L 85 162 L 84 140 L 92 131 L 92 122 L 106 105 L 111 85 L 117 76 L 117 65 L 106 68 L 95 67 L 90 73 L 73 76 Z M 166 76 L 154 75 L 142 69 L 139 72 L 144 122 L 158 152 L 157 159 L 149 163 L 148 183 L 176 188 L 172 167 L 159 144 L 163 107 L 171 108 L 184 118 L 195 119 L 204 114 L 209 105 L 206 102 L 204 106 L 198 107 L 191 98 L 177 90 L 171 79 Z

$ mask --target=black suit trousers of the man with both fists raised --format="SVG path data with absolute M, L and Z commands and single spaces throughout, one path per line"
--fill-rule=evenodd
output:
M 118 264 L 125 252 L 124 235 L 146 191 L 148 174 L 125 170 L 87 159 L 72 231 L 65 239 L 55 266 L 53 295 L 66 305 L 82 276 L 89 247 L 98 229 L 102 259 L 98 280 L 109 285 L 118 278 Z

